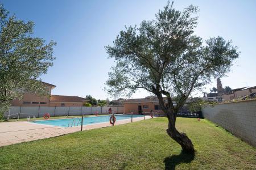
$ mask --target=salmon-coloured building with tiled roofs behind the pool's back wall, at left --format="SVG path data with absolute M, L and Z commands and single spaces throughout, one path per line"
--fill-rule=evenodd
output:
M 14 99 L 11 103 L 12 106 L 22 107 L 81 107 L 86 101 L 79 96 L 61 96 L 51 95 L 53 88 L 56 86 L 46 82 L 42 82 L 47 89 L 47 94 L 38 96 L 33 92 L 25 92 L 22 99 Z

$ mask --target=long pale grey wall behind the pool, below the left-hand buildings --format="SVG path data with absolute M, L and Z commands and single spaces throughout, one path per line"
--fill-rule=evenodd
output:
M 111 107 L 113 113 L 123 113 L 123 107 Z M 49 113 L 51 116 L 79 116 L 88 114 L 108 114 L 109 107 L 10 107 L 5 118 L 43 117 Z

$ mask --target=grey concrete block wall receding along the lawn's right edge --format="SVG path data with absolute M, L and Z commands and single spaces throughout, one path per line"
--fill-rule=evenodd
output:
M 203 116 L 256 147 L 256 100 L 204 105 Z

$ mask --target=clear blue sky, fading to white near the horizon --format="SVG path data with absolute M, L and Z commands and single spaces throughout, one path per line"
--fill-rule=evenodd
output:
M 55 84 L 54 95 L 92 95 L 97 99 L 108 96 L 103 88 L 110 66 L 104 46 L 112 44 L 125 25 L 139 24 L 155 18 L 167 1 L 64 1 L 64 0 L 5 0 L 1 1 L 18 19 L 35 23 L 34 35 L 47 42 L 57 42 L 53 67 L 44 82 Z M 199 6 L 196 35 L 208 39 L 222 36 L 233 40 L 241 51 L 240 59 L 223 86 L 238 88 L 256 86 L 256 1 L 175 1 L 176 9 Z M 206 90 L 216 86 L 216 80 Z M 141 91 L 133 97 L 145 97 Z M 197 94 L 201 95 L 201 94 Z

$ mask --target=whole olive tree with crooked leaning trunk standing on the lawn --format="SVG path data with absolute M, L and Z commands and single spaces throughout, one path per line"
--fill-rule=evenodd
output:
M 198 11 L 192 5 L 178 11 L 168 2 L 155 20 L 126 27 L 105 47 L 115 59 L 106 81 L 109 94 L 130 96 L 142 88 L 156 95 L 168 118 L 167 134 L 186 152 L 195 150 L 188 136 L 175 128 L 177 112 L 191 92 L 226 75 L 239 56 L 231 41 L 212 37 L 203 42 L 194 34 Z

